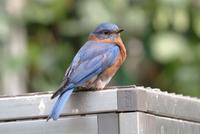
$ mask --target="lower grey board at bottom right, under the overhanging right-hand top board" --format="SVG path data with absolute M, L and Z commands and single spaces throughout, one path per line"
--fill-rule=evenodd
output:
M 200 134 L 200 124 L 147 113 L 120 113 L 120 134 Z

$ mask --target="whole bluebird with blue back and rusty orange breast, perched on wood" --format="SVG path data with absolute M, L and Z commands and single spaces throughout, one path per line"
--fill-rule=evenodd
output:
M 78 87 L 103 89 L 126 59 L 126 48 L 117 25 L 102 23 L 89 34 L 75 55 L 64 79 L 51 99 L 58 96 L 49 119 L 57 120 L 72 92 Z

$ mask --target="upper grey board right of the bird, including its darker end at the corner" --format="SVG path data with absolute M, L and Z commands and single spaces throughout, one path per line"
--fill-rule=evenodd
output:
M 151 88 L 118 90 L 118 111 L 141 111 L 200 122 L 200 99 Z

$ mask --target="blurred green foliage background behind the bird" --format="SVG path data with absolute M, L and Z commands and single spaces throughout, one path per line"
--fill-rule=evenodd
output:
M 102 22 L 128 50 L 110 85 L 200 97 L 199 0 L 1 0 L 0 94 L 55 90 Z

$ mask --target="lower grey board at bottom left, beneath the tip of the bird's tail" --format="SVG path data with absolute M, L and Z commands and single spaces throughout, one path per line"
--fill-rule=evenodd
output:
M 98 134 L 97 116 L 73 116 L 59 120 L 22 120 L 0 123 L 1 134 Z

